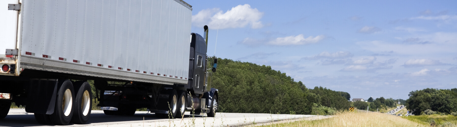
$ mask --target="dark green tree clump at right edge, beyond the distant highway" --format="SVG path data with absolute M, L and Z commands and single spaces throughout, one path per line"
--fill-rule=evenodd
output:
M 457 88 L 450 90 L 427 88 L 411 91 L 408 95 L 409 99 L 406 100 L 405 106 L 414 115 L 427 114 L 425 113 L 427 110 L 445 114 L 457 112 Z

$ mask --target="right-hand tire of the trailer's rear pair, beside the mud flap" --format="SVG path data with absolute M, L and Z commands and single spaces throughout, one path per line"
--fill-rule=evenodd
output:
M 85 81 L 76 81 L 74 90 L 78 91 L 74 100 L 74 114 L 71 119 L 75 124 L 86 124 L 89 121 L 90 112 L 92 111 L 92 90 L 89 83 Z

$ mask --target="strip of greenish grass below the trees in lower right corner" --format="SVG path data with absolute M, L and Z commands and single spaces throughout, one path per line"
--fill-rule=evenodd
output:
M 439 114 L 432 114 L 420 116 L 403 116 L 403 118 L 426 126 L 435 125 L 436 127 L 457 127 L 457 116 L 452 115 L 441 116 Z

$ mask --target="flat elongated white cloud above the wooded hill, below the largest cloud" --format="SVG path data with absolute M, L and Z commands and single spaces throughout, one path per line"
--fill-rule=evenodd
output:
M 280 45 L 280 46 L 285 46 L 285 45 L 304 45 L 304 44 L 317 43 L 317 42 L 323 40 L 324 37 L 325 37 L 324 35 L 319 35 L 319 36 L 316 36 L 316 37 L 309 36 L 307 38 L 304 38 L 303 34 L 299 34 L 297 36 L 278 37 L 278 38 L 268 42 L 268 44 L 270 44 L 270 45 Z

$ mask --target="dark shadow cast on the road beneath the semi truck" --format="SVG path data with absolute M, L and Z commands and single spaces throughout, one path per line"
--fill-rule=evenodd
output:
M 92 125 L 109 125 L 109 124 L 120 124 L 120 123 L 135 123 L 135 122 L 163 122 L 163 121 L 170 121 L 170 120 L 180 120 L 180 119 L 164 119 L 164 118 L 157 118 L 154 113 L 136 113 L 133 116 L 111 116 L 105 115 L 103 113 L 92 113 L 90 114 L 90 119 L 87 124 L 72 124 L 70 122 L 69 125 L 65 127 L 80 127 L 80 126 L 92 126 Z M 184 115 L 184 118 L 204 118 L 206 116 L 200 115 Z M 115 123 L 110 123 L 115 122 Z M 37 127 L 37 126 L 55 126 L 61 127 L 58 125 L 47 125 L 47 124 L 40 124 L 35 120 L 35 116 L 33 114 L 21 114 L 21 115 L 8 115 L 3 120 L 0 120 L 1 127 Z

